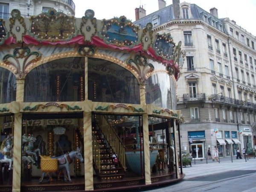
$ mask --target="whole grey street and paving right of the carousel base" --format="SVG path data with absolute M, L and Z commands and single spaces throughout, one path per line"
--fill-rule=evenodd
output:
M 237 160 L 221 158 L 221 162 L 192 161 L 192 167 L 183 168 L 186 177 L 172 185 L 138 190 L 141 192 L 255 192 L 256 158 Z

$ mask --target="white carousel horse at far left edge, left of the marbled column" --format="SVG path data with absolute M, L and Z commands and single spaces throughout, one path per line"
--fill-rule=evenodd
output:
M 4 155 L 3 159 L 0 160 L 2 163 L 9 162 L 9 170 L 12 169 L 12 161 L 13 158 L 11 157 L 12 150 L 12 137 L 7 136 L 0 147 L 0 152 Z

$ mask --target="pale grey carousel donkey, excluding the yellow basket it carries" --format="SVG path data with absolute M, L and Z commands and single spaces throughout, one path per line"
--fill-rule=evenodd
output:
M 60 170 L 60 169 L 65 170 L 64 171 L 64 181 L 67 181 L 67 176 L 68 176 L 69 182 L 71 183 L 69 165 L 70 165 L 70 163 L 72 163 L 74 157 L 78 158 L 80 162 L 84 161 L 80 151 L 81 151 L 81 149 L 77 147 L 76 151 L 71 151 L 70 153 L 61 155 L 59 157 L 51 157 L 53 159 L 58 159 L 58 170 Z M 43 172 L 42 177 L 39 180 L 40 183 L 43 181 L 44 175 L 45 175 L 45 172 Z

